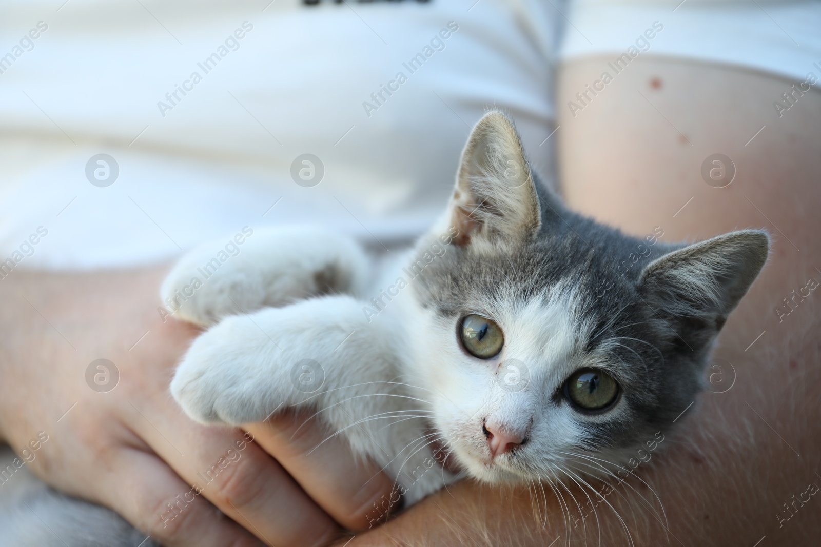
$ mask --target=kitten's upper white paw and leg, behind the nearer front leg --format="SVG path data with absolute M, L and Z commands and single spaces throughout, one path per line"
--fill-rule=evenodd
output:
M 168 315 L 209 326 L 228 315 L 316 294 L 359 294 L 368 271 L 361 249 L 330 230 L 245 226 L 242 233 L 180 258 L 163 281 L 160 298 Z

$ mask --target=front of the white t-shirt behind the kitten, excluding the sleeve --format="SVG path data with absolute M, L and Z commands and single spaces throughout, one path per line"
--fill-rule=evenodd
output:
M 442 211 L 488 108 L 553 175 L 560 19 L 541 0 L 4 2 L 0 262 L 127 267 L 293 222 L 390 248 Z

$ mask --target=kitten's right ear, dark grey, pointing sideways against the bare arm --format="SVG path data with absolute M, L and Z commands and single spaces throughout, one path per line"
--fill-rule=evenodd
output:
M 644 268 L 640 294 L 663 317 L 684 320 L 680 324 L 690 335 L 697 334 L 695 329 L 711 336 L 759 275 L 768 251 L 769 237 L 763 230 L 730 232 L 688 245 Z

